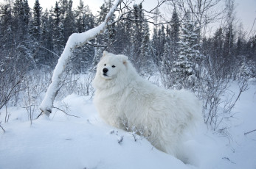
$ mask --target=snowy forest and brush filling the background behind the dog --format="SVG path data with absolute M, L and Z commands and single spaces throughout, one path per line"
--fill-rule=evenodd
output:
M 77 7 L 72 0 L 58 0 L 45 10 L 38 0 L 32 8 L 27 0 L 0 4 L 1 125 L 11 115 L 8 107 L 16 105 L 27 109 L 31 121 L 37 118 L 41 95 L 69 36 L 102 23 L 112 2 L 105 1 L 97 15 L 82 0 Z M 225 134 L 222 122 L 233 116 L 236 101 L 256 77 L 256 32 L 245 32 L 237 23 L 234 0 L 226 0 L 221 10 L 219 0 L 160 2 L 168 16 L 159 7 L 143 9 L 143 2 L 120 4 L 102 34 L 73 51 L 58 97 L 92 96 L 91 79 L 103 51 L 125 54 L 141 76 L 167 89 L 196 93 L 204 123 Z M 209 34 L 209 25 L 220 21 L 224 24 Z M 88 76 L 80 80 L 83 74 Z M 232 82 L 240 87 L 238 95 L 229 93 Z

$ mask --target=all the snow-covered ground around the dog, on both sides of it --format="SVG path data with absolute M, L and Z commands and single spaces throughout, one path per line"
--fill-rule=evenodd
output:
M 232 90 L 238 90 L 234 85 Z M 229 138 L 198 128 L 186 143 L 190 165 L 158 151 L 145 138 L 105 124 L 91 97 L 72 94 L 56 101 L 50 118 L 27 120 L 27 110 L 9 107 L 11 116 L 0 129 L 0 169 L 11 168 L 256 168 L 256 87 L 242 93 L 226 121 Z M 65 103 L 65 104 L 64 104 Z M 5 109 L 1 109 L 5 112 Z M 136 137 L 136 138 L 134 138 Z M 136 140 L 136 141 L 135 141 Z

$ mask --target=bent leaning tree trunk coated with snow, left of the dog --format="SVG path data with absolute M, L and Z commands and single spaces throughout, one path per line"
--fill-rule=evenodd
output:
M 117 10 L 117 6 L 121 2 L 122 0 L 114 1 L 113 7 L 111 7 L 111 10 L 108 12 L 108 15 L 105 16 L 105 21 L 99 26 L 90 29 L 87 32 L 83 32 L 80 34 L 73 33 L 72 35 L 70 35 L 69 40 L 67 41 L 66 46 L 63 50 L 63 53 L 61 54 L 58 60 L 55 70 L 53 71 L 52 82 L 51 84 L 49 84 L 49 87 L 46 91 L 46 95 L 44 96 L 44 99 L 41 103 L 41 114 L 49 116 L 49 114 L 52 112 L 53 101 L 55 100 L 55 97 L 57 96 L 59 90 L 60 76 L 63 73 L 67 63 L 69 62 L 72 50 L 74 50 L 78 46 L 83 46 L 89 40 L 94 39 L 94 37 L 102 33 L 105 27 L 108 25 L 108 21 L 111 18 L 111 15 L 113 15 L 115 10 Z

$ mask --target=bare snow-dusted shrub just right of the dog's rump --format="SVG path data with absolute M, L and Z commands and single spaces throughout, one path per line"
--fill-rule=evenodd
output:
M 226 131 L 224 121 L 233 117 L 232 109 L 235 107 L 241 93 L 248 89 L 248 79 L 240 76 L 236 81 L 239 92 L 230 90 L 232 79 L 226 78 L 226 72 L 221 65 L 215 65 L 215 61 L 207 57 L 201 68 L 200 78 L 196 81 L 197 96 L 201 98 L 204 111 L 204 122 L 212 130 L 218 130 L 222 134 Z M 228 134 L 225 134 L 228 135 Z

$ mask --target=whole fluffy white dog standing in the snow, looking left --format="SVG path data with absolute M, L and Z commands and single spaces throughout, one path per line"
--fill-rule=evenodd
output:
M 94 104 L 101 118 L 120 129 L 143 130 L 151 144 L 183 159 L 185 129 L 201 118 L 201 104 L 185 90 L 165 90 L 142 79 L 128 57 L 103 52 L 93 80 Z

